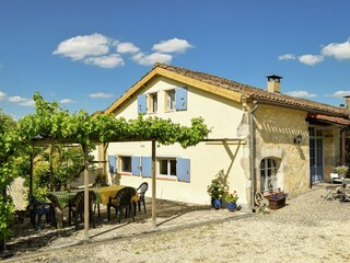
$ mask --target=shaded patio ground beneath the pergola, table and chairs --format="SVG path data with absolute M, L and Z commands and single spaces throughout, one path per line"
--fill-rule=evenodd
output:
M 156 217 L 162 217 L 164 219 L 162 222 L 159 224 L 159 226 L 174 220 L 190 211 L 210 209 L 211 207 L 209 205 L 194 205 L 163 199 L 156 201 Z M 65 210 L 63 215 L 66 219 L 68 210 Z M 135 224 L 145 224 L 151 217 L 152 203 L 151 198 L 147 198 L 147 213 L 143 211 L 142 207 L 141 211 L 139 211 L 137 208 Z M 98 229 L 98 231 L 94 229 L 95 233 L 92 237 L 102 237 L 108 231 L 110 232 L 112 230 L 118 228 L 130 227 L 133 224 L 129 217 L 126 218 L 125 216 L 121 217 L 121 224 L 117 224 L 115 214 L 112 214 L 110 220 L 107 221 L 107 210 L 105 207 L 102 207 L 101 209 L 101 218 L 98 218 L 98 216 L 95 215 L 95 222 L 96 229 Z M 103 228 L 103 225 L 108 225 L 109 228 Z M 80 224 L 79 228 L 83 229 L 82 222 Z M 72 238 L 78 233 L 79 232 L 75 231 L 75 228 L 73 226 L 68 225 L 67 219 L 63 221 L 63 228 L 61 229 L 57 229 L 50 224 L 46 224 L 44 219 L 42 229 L 35 230 L 30 222 L 30 218 L 25 218 L 22 224 L 16 224 L 13 226 L 13 236 L 7 242 L 8 252 L 5 256 L 9 258 L 11 255 L 19 255 L 21 253 L 36 252 L 43 248 L 49 247 L 49 244 L 57 239 Z

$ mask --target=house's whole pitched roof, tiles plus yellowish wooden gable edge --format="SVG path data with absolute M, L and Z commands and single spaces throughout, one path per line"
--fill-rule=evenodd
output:
M 113 103 L 105 112 L 110 113 L 115 111 L 125 100 L 137 92 L 148 80 L 156 75 L 168 77 L 171 79 L 195 85 L 196 88 L 207 90 L 209 92 L 235 100 L 237 102 L 241 102 L 242 96 L 245 96 L 252 101 L 256 100 L 260 103 L 270 103 L 281 106 L 295 107 L 311 113 L 324 113 L 335 116 L 341 115 L 347 118 L 350 114 L 350 112 L 343 107 L 337 107 L 305 99 L 285 95 L 282 93 L 272 93 L 266 91 L 265 89 L 243 84 L 214 75 L 178 68 L 166 64 L 155 64 L 151 71 L 149 71 L 143 78 L 141 78 L 140 81 L 132 85 L 126 92 L 126 94 L 124 94 L 115 103 Z

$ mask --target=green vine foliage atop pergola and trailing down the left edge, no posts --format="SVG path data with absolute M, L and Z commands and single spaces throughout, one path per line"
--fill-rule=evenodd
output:
M 192 118 L 191 126 L 182 126 L 171 119 L 144 117 L 126 121 L 113 115 L 96 114 L 91 116 L 85 111 L 70 114 L 57 102 L 46 102 L 37 92 L 33 95 L 35 113 L 14 122 L 11 116 L 0 112 L 0 241 L 10 235 L 13 219 L 13 205 L 5 188 L 14 178 L 15 168 L 22 171 L 30 163 L 28 155 L 16 161 L 19 149 L 28 149 L 35 142 L 81 144 L 91 147 L 93 142 L 155 140 L 161 145 L 180 144 L 187 148 L 206 138 L 210 129 L 201 117 Z M 30 149 L 31 150 L 31 149 Z M 16 164 L 18 163 L 18 164 Z M 20 163 L 20 164 L 19 164 Z M 42 168 L 45 172 L 45 167 Z M 66 171 L 58 171 L 65 173 Z

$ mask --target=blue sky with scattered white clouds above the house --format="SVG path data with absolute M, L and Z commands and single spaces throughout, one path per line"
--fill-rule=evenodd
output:
M 105 110 L 155 61 L 327 104 L 350 94 L 347 0 L 0 0 L 0 108 Z

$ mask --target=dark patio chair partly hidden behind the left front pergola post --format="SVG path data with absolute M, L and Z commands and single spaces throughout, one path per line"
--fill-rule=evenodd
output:
M 89 191 L 89 217 L 92 222 L 93 228 L 95 228 L 95 219 L 94 219 L 94 209 L 93 204 L 96 201 L 96 195 L 93 191 Z M 69 226 L 71 226 L 71 217 L 74 218 L 75 230 L 78 230 L 78 216 L 80 215 L 80 219 L 83 220 L 84 214 L 84 191 L 78 192 L 74 197 L 69 202 L 68 205 L 68 221 Z

